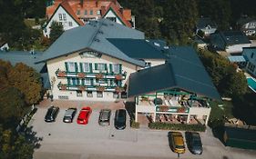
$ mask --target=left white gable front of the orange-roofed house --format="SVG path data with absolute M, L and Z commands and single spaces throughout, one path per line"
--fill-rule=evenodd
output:
M 50 27 L 54 21 L 61 23 L 65 31 L 79 26 L 77 24 L 77 21 L 75 21 L 75 19 L 67 13 L 67 11 L 62 7 L 62 5 L 59 5 L 59 7 L 57 7 L 56 13 L 52 15 L 50 21 L 47 23 L 46 27 L 43 30 L 43 33 L 46 37 L 50 36 Z

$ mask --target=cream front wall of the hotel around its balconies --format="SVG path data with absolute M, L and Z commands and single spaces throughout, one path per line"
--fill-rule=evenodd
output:
M 54 95 L 54 99 L 58 99 L 59 95 L 68 96 L 69 100 L 91 100 L 91 101 L 115 101 L 116 98 L 113 97 L 113 93 L 105 92 L 103 94 L 103 98 L 97 98 L 97 94 L 94 93 L 93 97 L 87 97 L 87 92 L 84 91 L 82 97 L 77 97 L 76 91 L 63 91 L 59 90 L 57 84 L 61 82 L 62 84 L 67 84 L 67 78 L 57 78 L 56 70 L 60 69 L 61 71 L 65 71 L 65 62 L 77 62 L 77 63 L 105 63 L 105 64 L 122 64 L 122 72 L 126 71 L 127 76 L 126 79 L 123 80 L 123 84 L 128 82 L 128 77 L 131 73 L 136 72 L 138 69 L 136 65 L 131 65 L 127 62 L 118 60 L 117 58 L 110 57 L 107 55 L 102 55 L 101 58 L 94 57 L 81 57 L 78 53 L 73 53 L 71 55 L 58 57 L 56 59 L 52 59 L 47 61 L 47 69 L 49 80 L 55 79 L 55 82 L 52 86 L 52 93 Z

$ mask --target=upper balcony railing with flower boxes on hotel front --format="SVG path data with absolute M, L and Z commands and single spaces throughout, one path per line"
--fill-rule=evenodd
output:
M 56 76 L 61 77 L 77 77 L 77 78 L 97 78 L 97 79 L 117 79 L 117 80 L 124 80 L 126 79 L 127 73 L 124 72 L 122 74 L 118 73 L 107 73 L 107 72 L 99 72 L 95 70 L 91 73 L 85 72 L 66 72 L 61 71 L 59 69 L 56 70 Z

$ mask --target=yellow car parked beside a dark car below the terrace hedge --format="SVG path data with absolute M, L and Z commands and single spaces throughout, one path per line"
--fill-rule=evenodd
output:
M 179 132 L 169 132 L 169 144 L 174 153 L 184 154 L 185 144 L 183 136 Z

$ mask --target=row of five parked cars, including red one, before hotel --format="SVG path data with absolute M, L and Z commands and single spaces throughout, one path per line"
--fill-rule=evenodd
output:
M 50 106 L 47 110 L 45 121 L 46 122 L 55 122 L 56 116 L 59 112 L 59 107 Z M 89 120 L 89 116 L 92 113 L 92 109 L 89 106 L 83 107 L 77 117 L 77 124 L 87 124 Z M 68 108 L 64 114 L 63 122 L 64 123 L 73 123 L 73 119 L 77 114 L 77 108 Z M 98 124 L 105 126 L 110 124 L 110 109 L 102 109 L 99 112 Z M 115 113 L 114 124 L 115 127 L 119 130 L 126 128 L 126 118 L 127 112 L 125 109 L 118 109 Z

